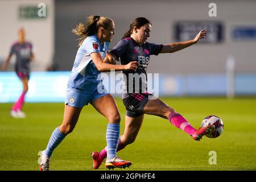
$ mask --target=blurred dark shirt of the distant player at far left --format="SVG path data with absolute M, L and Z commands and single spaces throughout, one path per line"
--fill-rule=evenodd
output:
M 11 46 L 11 55 L 16 55 L 15 71 L 17 73 L 29 73 L 30 72 L 30 56 L 32 54 L 32 44 L 25 42 L 20 44 L 18 42 Z

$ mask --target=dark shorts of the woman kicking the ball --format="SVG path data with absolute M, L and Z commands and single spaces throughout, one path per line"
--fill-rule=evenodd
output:
M 136 118 L 143 115 L 144 106 L 148 102 L 150 93 L 132 93 L 129 97 L 123 98 L 123 104 L 126 107 L 126 115 L 131 118 Z

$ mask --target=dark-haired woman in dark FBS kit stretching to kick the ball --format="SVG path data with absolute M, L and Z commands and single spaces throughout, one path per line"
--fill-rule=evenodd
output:
M 122 71 L 124 78 L 122 99 L 123 104 L 126 106 L 126 117 L 125 132 L 119 138 L 117 151 L 134 142 L 141 129 L 144 114 L 157 115 L 168 119 L 172 125 L 185 131 L 195 140 L 200 140 L 205 134 L 213 130 L 213 126 L 196 130 L 181 114 L 176 113 L 172 107 L 147 92 L 146 71 L 150 55 L 172 53 L 192 46 L 200 39 L 203 39 L 207 32 L 201 30 L 192 40 L 163 45 L 146 42 L 150 37 L 151 27 L 151 22 L 146 18 L 134 19 L 130 24 L 130 29 L 108 55 L 109 62 L 112 64 L 115 64 L 115 60 L 118 58 L 121 64 L 127 64 L 130 61 L 139 62 L 139 67 L 135 72 Z M 136 75 L 139 76 L 139 84 L 131 80 L 134 77 L 136 80 Z M 93 152 L 92 158 L 93 167 L 97 169 L 106 158 L 106 149 L 104 148 L 101 152 Z

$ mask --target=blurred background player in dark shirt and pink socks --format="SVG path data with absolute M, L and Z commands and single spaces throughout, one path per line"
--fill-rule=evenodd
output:
M 25 95 L 28 91 L 28 80 L 30 79 L 30 62 L 34 60 L 35 56 L 32 52 L 32 44 L 26 41 L 26 32 L 24 28 L 18 31 L 18 42 L 11 46 L 11 51 L 6 61 L 2 64 L 2 69 L 6 70 L 10 62 L 11 56 L 16 56 L 15 72 L 19 79 L 22 81 L 23 90 L 18 101 L 15 102 L 11 108 L 10 115 L 14 118 L 24 118 L 26 115 L 22 111 L 25 102 Z

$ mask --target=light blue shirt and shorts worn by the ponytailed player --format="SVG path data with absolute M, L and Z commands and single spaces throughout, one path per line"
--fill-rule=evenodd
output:
M 104 89 L 100 72 L 90 58 L 90 53 L 98 52 L 105 58 L 109 42 L 101 45 L 97 35 L 88 36 L 79 47 L 68 80 L 65 104 L 74 107 L 88 105 L 89 102 L 105 96 L 106 92 L 98 93 L 98 86 Z

